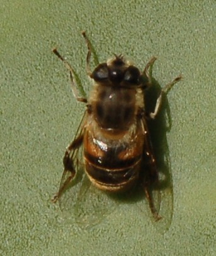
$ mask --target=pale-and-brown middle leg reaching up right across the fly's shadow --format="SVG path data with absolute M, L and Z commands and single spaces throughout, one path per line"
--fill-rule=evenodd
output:
M 173 87 L 173 85 L 177 82 L 179 82 L 183 77 L 181 75 L 177 76 L 176 78 L 174 78 L 173 81 L 169 82 L 166 86 L 164 86 L 164 88 L 162 88 L 161 90 L 161 94 L 159 95 L 159 97 L 157 98 L 157 102 L 156 102 L 156 106 L 154 108 L 154 112 L 150 113 L 149 116 L 154 119 L 156 118 L 157 114 L 160 111 L 161 108 L 161 104 L 162 104 L 162 97 L 163 95 L 168 94 L 169 90 L 171 90 L 171 88 Z

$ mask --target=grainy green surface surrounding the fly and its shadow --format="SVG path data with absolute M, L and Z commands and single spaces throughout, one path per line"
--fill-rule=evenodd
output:
M 0 5 L 1 255 L 214 255 L 215 1 Z M 161 86 L 184 76 L 168 95 L 174 207 L 166 232 L 136 204 L 120 204 L 97 226 L 81 229 L 50 203 L 84 109 L 52 48 L 88 91 L 81 30 L 101 62 L 122 53 L 142 70 L 156 55 L 153 76 Z

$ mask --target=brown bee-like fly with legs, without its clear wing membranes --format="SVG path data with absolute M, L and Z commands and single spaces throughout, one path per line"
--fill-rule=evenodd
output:
M 86 104 L 86 111 L 76 137 L 65 151 L 64 173 L 59 192 L 55 194 L 52 202 L 60 201 L 73 183 L 79 170 L 79 163 L 83 161 L 88 179 L 99 190 L 125 192 L 139 181 L 144 188 L 152 215 L 158 221 L 161 219 L 159 173 L 147 119 L 156 118 L 163 95 L 167 94 L 182 77 L 177 76 L 162 88 L 154 112 L 146 113 L 144 92 L 151 86 L 150 69 L 156 57 L 152 57 L 144 71 L 140 71 L 122 54 L 114 54 L 112 59 L 98 64 L 91 71 L 90 58 L 93 49 L 86 33 L 82 32 L 82 35 L 88 46 L 86 70 L 93 80 L 93 88 L 88 99 L 78 94 L 74 81 L 76 73 L 72 66 L 57 49 L 53 50 L 69 70 L 74 97 Z M 82 159 L 79 159 L 79 152 L 82 152 Z M 152 189 L 156 191 L 158 207 Z

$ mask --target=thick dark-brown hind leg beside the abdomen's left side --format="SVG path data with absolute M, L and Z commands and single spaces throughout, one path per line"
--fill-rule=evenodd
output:
M 74 180 L 74 176 L 76 174 L 76 169 L 74 168 L 74 160 L 76 160 L 77 149 L 81 147 L 82 141 L 83 134 L 79 135 L 79 137 L 77 137 L 72 143 L 70 143 L 65 151 L 63 158 L 64 173 L 62 176 L 59 192 L 56 193 L 52 198 L 53 203 L 59 200 L 62 193 L 67 189 L 71 181 Z

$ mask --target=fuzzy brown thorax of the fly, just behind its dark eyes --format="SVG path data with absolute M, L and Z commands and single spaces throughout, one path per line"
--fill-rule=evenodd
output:
M 101 128 L 127 130 L 136 114 L 136 90 L 94 85 L 90 97 L 92 114 Z

